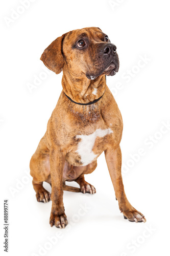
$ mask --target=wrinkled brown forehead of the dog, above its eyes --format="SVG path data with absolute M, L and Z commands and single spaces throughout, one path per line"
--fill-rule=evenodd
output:
M 101 37 L 101 35 L 104 35 L 102 30 L 100 28 L 96 27 L 89 27 L 89 28 L 83 28 L 83 29 L 76 29 L 72 30 L 66 33 L 65 40 L 64 41 L 74 41 L 80 37 Z

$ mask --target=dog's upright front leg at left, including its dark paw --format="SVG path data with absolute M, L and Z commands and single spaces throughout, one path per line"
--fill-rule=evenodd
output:
M 50 172 L 52 179 L 52 211 L 50 225 L 58 228 L 65 228 L 67 217 L 63 205 L 63 168 L 65 157 L 58 147 L 51 147 L 50 150 Z

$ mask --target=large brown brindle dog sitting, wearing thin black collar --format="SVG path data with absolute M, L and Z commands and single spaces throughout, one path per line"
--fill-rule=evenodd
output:
M 63 190 L 95 193 L 84 175 L 93 172 L 103 151 L 124 218 L 145 222 L 129 203 L 122 181 L 123 121 L 105 79 L 119 68 L 115 45 L 99 28 L 73 30 L 54 40 L 41 60 L 56 74 L 63 71 L 63 90 L 30 162 L 37 201 L 45 203 L 52 196 L 51 226 L 67 225 Z M 52 185 L 52 195 L 43 181 Z M 66 186 L 65 181 L 76 181 L 80 189 Z

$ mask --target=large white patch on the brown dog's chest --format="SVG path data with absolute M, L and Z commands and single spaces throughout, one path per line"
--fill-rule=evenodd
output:
M 110 128 L 105 130 L 97 129 L 94 133 L 90 135 L 76 136 L 76 138 L 81 139 L 81 141 L 78 144 L 78 149 L 76 152 L 81 156 L 82 165 L 87 165 L 91 163 L 94 160 L 94 158 L 98 156 L 92 152 L 96 137 L 104 137 L 111 133 L 113 133 L 113 131 Z

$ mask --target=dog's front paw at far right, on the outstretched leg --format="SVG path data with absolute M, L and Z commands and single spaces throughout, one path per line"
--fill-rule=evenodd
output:
M 132 207 L 133 208 L 133 207 Z M 144 218 L 144 215 L 141 214 L 140 211 L 137 211 L 135 208 L 130 210 L 123 210 L 124 219 L 128 219 L 131 222 L 146 222 L 147 220 Z

